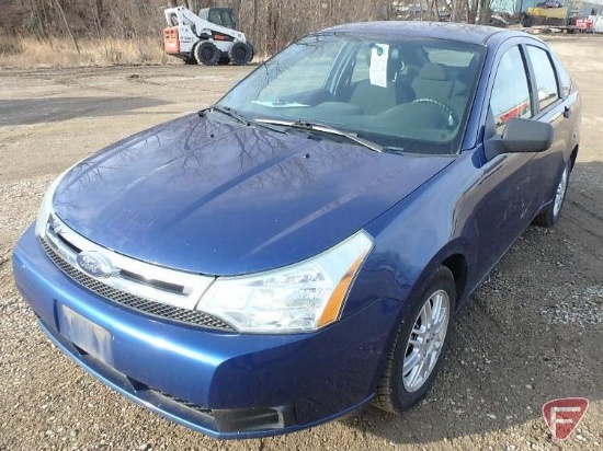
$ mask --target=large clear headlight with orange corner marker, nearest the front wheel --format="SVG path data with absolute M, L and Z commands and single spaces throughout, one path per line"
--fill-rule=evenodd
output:
M 316 257 L 253 276 L 218 277 L 197 310 L 240 332 L 311 332 L 337 321 L 359 269 L 373 248 L 360 231 Z

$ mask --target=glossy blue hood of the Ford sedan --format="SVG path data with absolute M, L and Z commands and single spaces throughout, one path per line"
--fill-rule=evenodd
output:
M 76 165 L 54 209 L 121 254 L 238 275 L 326 251 L 450 162 L 189 115 Z

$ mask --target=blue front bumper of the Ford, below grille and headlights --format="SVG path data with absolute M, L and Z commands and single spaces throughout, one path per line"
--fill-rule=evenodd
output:
M 311 334 L 237 334 L 160 321 L 65 276 L 33 227 L 13 254 L 16 285 L 49 337 L 120 393 L 217 438 L 315 426 L 374 395 L 402 304 L 377 300 Z

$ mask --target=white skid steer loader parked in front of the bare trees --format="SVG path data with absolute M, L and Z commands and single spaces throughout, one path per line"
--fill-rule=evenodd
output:
M 253 58 L 253 47 L 244 34 L 224 26 L 235 26 L 231 9 L 207 8 L 200 11 L 201 16 L 184 7 L 168 8 L 163 13 L 169 25 L 163 28 L 168 55 L 190 65 L 206 66 L 218 62 L 244 66 Z

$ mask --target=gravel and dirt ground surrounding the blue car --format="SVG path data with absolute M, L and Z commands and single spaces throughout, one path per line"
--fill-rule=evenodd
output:
M 456 319 L 428 398 L 403 417 L 367 408 L 289 436 L 220 442 L 106 389 L 55 349 L 12 280 L 12 247 L 46 185 L 91 152 L 217 100 L 234 67 L 0 71 L 0 450 L 596 450 L 603 447 L 603 39 L 551 41 L 584 103 L 568 201 L 531 228 Z M 598 57 L 595 57 L 598 56 Z M 591 402 L 555 442 L 547 400 Z

